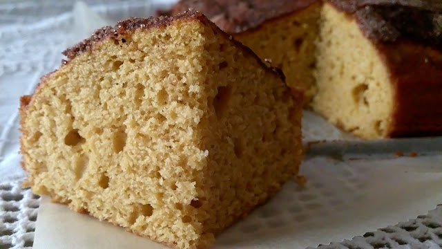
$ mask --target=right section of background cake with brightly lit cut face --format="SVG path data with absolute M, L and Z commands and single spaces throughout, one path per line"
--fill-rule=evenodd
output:
M 327 1 L 311 106 L 362 138 L 442 133 L 442 3 Z

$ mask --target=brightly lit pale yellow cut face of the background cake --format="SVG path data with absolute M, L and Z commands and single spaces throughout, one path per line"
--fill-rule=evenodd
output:
M 314 111 L 362 138 L 388 136 L 392 122 L 390 73 L 356 20 L 323 5 L 316 50 Z

